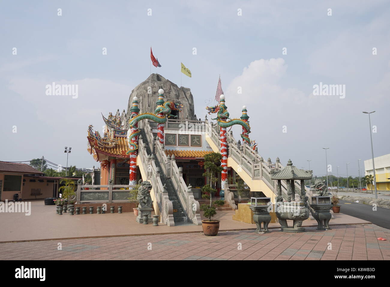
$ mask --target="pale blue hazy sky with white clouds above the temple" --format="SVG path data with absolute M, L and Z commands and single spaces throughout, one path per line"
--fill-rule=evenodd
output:
M 231 117 L 246 105 L 264 159 L 358 175 L 390 153 L 389 1 L 0 1 L 0 160 L 99 166 L 87 128 L 127 110 L 152 73 L 191 89 L 204 118 L 218 77 Z M 60 10 L 58 10 L 60 9 Z M 329 10 L 331 9 L 331 10 Z M 60 14 L 60 15 L 58 15 Z M 150 47 L 161 68 L 150 68 Z M 16 49 L 15 49 L 16 48 Z M 195 49 L 194 49 L 195 48 Z M 106 49 L 106 55 L 103 50 Z M 196 53 L 194 53 L 196 51 Z M 180 62 L 191 70 L 180 73 Z M 78 85 L 77 97 L 46 85 Z M 344 94 L 316 94 L 341 85 Z M 345 86 L 344 86 L 345 85 Z M 340 90 L 341 91 L 341 90 Z M 239 139 L 241 127 L 233 127 Z

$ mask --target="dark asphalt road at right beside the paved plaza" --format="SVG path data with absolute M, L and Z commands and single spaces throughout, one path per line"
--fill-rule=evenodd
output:
M 390 229 L 390 209 L 377 207 L 377 210 L 373 211 L 372 205 L 344 200 L 340 200 L 340 206 L 340 213 L 364 219 L 378 226 Z M 387 240 L 390 240 L 390 238 Z

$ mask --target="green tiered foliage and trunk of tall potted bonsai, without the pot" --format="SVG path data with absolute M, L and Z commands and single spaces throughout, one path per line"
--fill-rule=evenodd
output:
M 217 191 L 213 188 L 213 185 L 215 185 L 218 181 L 218 178 L 215 175 L 221 173 L 223 170 L 220 166 L 221 158 L 221 154 L 215 152 L 204 156 L 204 168 L 206 169 L 206 172 L 203 173 L 203 176 L 207 176 L 209 179 L 209 185 L 202 187 L 202 198 L 210 199 L 210 203 L 200 205 L 200 209 L 204 211 L 203 215 L 204 217 L 207 217 L 209 221 L 211 221 L 211 217 L 217 214 L 216 206 L 222 206 L 225 204 L 225 201 L 223 200 L 212 201 L 213 194 Z

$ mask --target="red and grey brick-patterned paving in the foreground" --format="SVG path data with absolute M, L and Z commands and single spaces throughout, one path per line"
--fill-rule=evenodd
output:
M 83 238 L 0 243 L 0 260 L 390 260 L 389 239 L 390 230 L 372 224 L 327 231 L 309 227 L 295 234 L 274 229 L 268 234 L 220 232 L 216 237 L 188 233 Z M 57 250 L 59 243 L 62 250 Z

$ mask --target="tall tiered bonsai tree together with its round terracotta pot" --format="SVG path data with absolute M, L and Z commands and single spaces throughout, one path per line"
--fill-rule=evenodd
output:
M 207 219 L 202 220 L 203 233 L 206 236 L 216 236 L 218 234 L 220 221 L 212 220 L 211 217 L 216 215 L 216 206 L 222 206 L 225 204 L 223 200 L 212 201 L 213 194 L 216 193 L 216 189 L 213 185 L 218 181 L 216 174 L 220 174 L 223 168 L 220 166 L 221 154 L 209 153 L 204 156 L 204 168 L 206 172 L 203 176 L 207 176 L 209 179 L 209 185 L 202 187 L 202 198 L 210 200 L 209 204 L 202 204 L 200 209 L 204 212 L 203 216 Z

